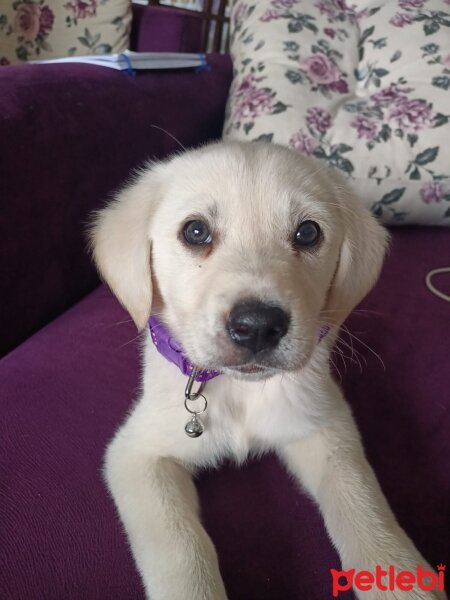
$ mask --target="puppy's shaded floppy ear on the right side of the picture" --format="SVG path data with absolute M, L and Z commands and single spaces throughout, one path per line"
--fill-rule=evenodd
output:
M 329 315 L 331 322 L 340 325 L 375 285 L 389 235 L 347 186 L 338 183 L 335 192 L 344 239 L 329 292 L 326 315 Z

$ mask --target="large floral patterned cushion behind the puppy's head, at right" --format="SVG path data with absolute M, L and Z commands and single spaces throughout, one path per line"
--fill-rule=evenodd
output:
M 450 0 L 239 0 L 224 137 L 345 173 L 385 223 L 450 225 Z

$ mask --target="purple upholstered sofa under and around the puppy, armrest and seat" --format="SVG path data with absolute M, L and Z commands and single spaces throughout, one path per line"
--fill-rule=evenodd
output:
M 136 47 L 196 49 L 198 21 L 147 10 Z M 209 63 L 136 78 L 0 68 L 2 600 L 144 597 L 101 477 L 139 387 L 139 339 L 98 287 L 83 232 L 130 169 L 178 149 L 153 125 L 186 147 L 220 136 L 231 64 Z M 450 308 L 424 278 L 449 263 L 450 230 L 393 231 L 379 284 L 347 322 L 360 341 L 343 333 L 358 355 L 342 346 L 346 364 L 334 359 L 382 488 L 432 565 L 450 558 Z M 275 458 L 205 472 L 198 487 L 230 600 L 332 597 L 337 554 Z

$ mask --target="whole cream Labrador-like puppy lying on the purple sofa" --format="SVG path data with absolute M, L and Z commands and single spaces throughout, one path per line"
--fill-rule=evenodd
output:
M 330 375 L 339 326 L 374 285 L 388 237 L 336 173 L 275 145 L 212 144 L 142 170 L 91 233 L 102 277 L 145 331 L 142 392 L 105 477 L 149 598 L 227 597 L 193 474 L 266 451 L 317 502 L 344 569 L 429 569 Z M 220 372 L 198 417 L 186 411 L 205 408 L 192 377 L 183 401 L 190 367 Z

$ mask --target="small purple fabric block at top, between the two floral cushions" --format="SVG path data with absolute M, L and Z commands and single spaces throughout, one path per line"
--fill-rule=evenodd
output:
M 131 48 L 137 52 L 200 52 L 198 13 L 164 6 L 133 6 Z

